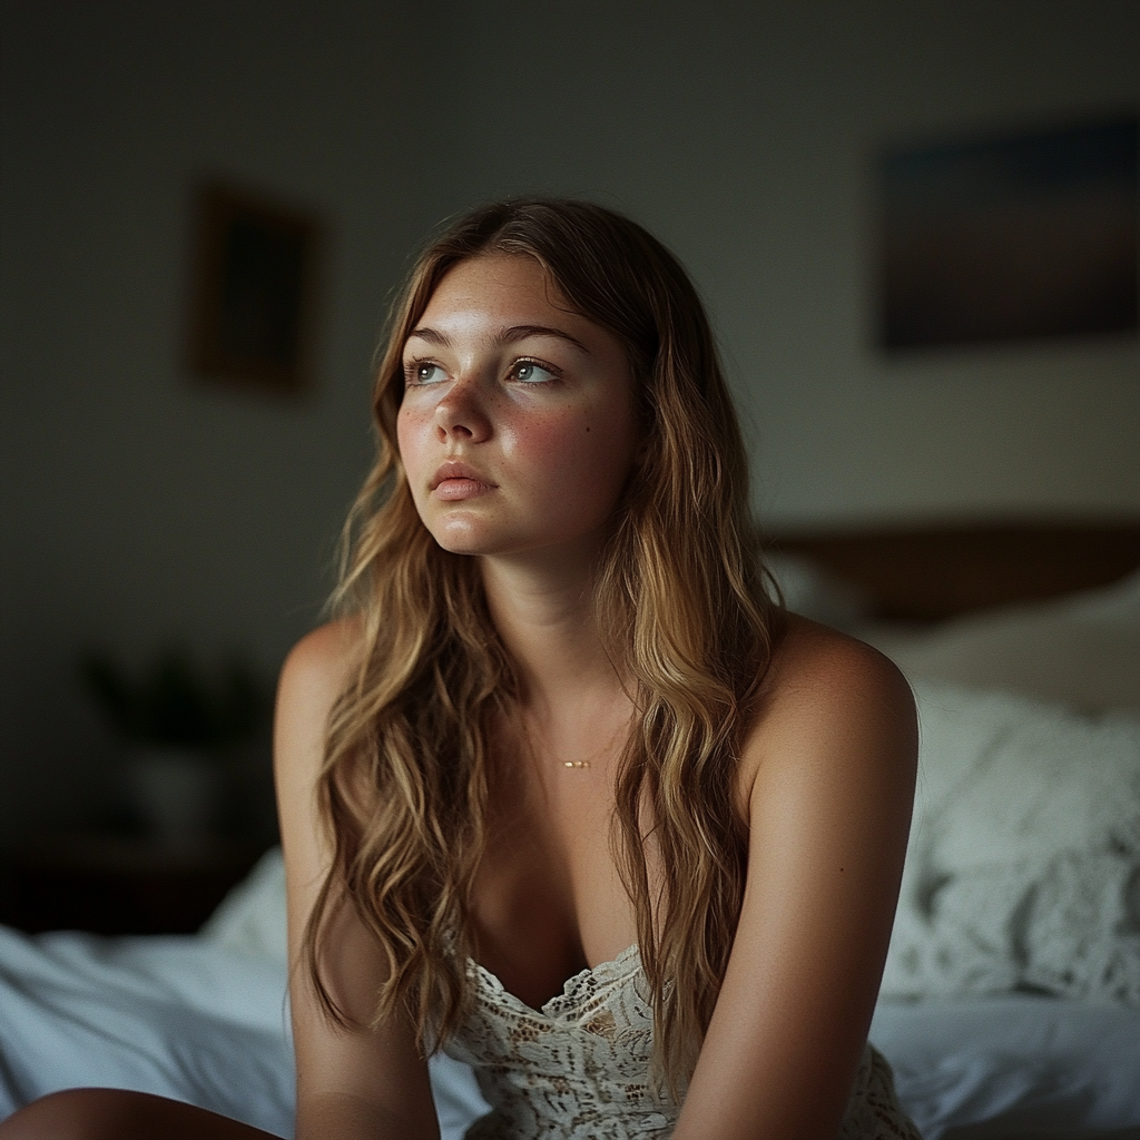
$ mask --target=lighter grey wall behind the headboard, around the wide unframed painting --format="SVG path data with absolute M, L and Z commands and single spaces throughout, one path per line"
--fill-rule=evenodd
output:
M 771 523 L 1140 514 L 1134 335 L 895 363 L 869 271 L 879 144 L 1135 107 L 1140 7 L 491 2 L 463 26 L 464 188 L 596 195 L 681 253 Z

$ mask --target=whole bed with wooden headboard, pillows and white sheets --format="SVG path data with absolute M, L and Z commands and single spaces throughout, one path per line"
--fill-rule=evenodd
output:
M 871 1039 L 927 1140 L 1140 1138 L 1140 527 L 779 536 L 793 609 L 910 677 L 907 866 Z M 0 1118 L 173 1096 L 292 1135 L 280 857 L 198 935 L 0 928 Z M 482 1110 L 432 1061 L 445 1140 Z

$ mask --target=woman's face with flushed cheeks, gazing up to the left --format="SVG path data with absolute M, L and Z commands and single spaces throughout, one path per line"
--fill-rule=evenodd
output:
M 527 255 L 453 267 L 404 347 L 397 421 L 416 508 L 445 549 L 596 545 L 634 463 L 617 339 Z

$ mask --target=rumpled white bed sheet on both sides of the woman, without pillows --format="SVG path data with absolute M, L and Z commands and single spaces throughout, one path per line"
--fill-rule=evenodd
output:
M 882 1002 L 872 1041 L 927 1140 L 1140 1138 L 1140 1011 L 1011 995 Z M 433 1059 L 443 1140 L 483 1110 Z M 285 974 L 186 937 L 0 928 L 0 1118 L 56 1089 L 140 1089 L 292 1135 Z M 1124 1131 L 1119 1131 L 1124 1130 Z

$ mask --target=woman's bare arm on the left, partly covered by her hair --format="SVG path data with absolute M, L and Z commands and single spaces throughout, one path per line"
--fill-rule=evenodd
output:
M 301 954 L 302 936 L 329 864 L 316 781 L 329 710 L 351 659 L 351 626 L 334 622 L 290 654 L 277 695 L 275 771 L 288 891 L 290 997 L 296 1050 L 298 1140 L 439 1140 L 427 1065 L 410 1024 L 368 1028 L 382 955 L 351 907 L 329 925 L 325 982 L 355 1026 L 321 1009 Z

